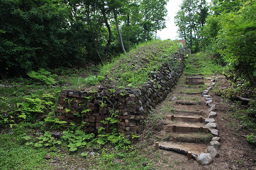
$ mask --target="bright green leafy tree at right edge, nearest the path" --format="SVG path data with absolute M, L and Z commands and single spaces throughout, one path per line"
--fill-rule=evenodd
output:
M 219 52 L 224 56 L 230 70 L 236 74 L 233 78 L 242 77 L 255 84 L 255 1 L 246 1 L 237 12 L 221 16 L 222 30 L 218 35 Z

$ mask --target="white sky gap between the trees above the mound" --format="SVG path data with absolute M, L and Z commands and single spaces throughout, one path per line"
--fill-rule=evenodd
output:
M 206 0 L 208 3 L 211 2 L 211 0 Z M 176 27 L 174 23 L 174 17 L 176 16 L 176 13 L 180 9 L 179 5 L 182 3 L 182 0 L 169 0 L 166 5 L 166 9 L 168 10 L 167 16 L 166 16 L 166 28 L 162 29 L 162 31 L 157 32 L 157 37 L 161 40 L 171 39 L 176 40 L 180 39 L 177 37 L 177 30 L 178 27 Z

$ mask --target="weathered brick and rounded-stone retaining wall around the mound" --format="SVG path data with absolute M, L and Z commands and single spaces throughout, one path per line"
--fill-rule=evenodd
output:
M 148 112 L 164 100 L 176 85 L 184 70 L 184 55 L 174 53 L 158 71 L 151 71 L 151 80 L 139 89 L 124 88 L 122 91 L 100 89 L 97 92 L 62 90 L 57 112 L 68 123 L 86 123 L 87 133 L 98 129 L 110 129 L 107 118 L 117 116 L 117 130 L 126 135 L 139 134 Z M 116 113 L 116 114 L 113 114 Z

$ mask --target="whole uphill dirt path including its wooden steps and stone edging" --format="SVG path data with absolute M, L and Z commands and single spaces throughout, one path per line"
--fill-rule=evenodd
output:
M 195 56 L 188 61 L 194 73 L 185 70 L 173 93 L 153 110 L 165 116 L 151 141 L 160 169 L 256 169 L 251 146 L 230 127 L 232 103 L 213 93 L 229 87 L 226 78 L 201 74 Z

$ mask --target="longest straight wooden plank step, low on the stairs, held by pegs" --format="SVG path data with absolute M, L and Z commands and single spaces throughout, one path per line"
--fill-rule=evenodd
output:
M 166 125 L 165 126 L 166 132 L 182 132 L 182 133 L 209 133 L 207 127 L 189 127 L 189 126 L 176 126 L 176 125 Z

